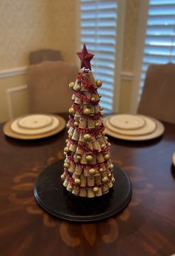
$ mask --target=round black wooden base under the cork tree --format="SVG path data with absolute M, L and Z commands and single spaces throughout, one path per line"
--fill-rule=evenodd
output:
M 74 196 L 60 178 L 64 160 L 47 166 L 36 179 L 34 196 L 39 205 L 55 217 L 76 222 L 92 222 L 119 213 L 131 200 L 131 181 L 119 167 L 114 167 L 116 182 L 110 192 L 99 197 Z

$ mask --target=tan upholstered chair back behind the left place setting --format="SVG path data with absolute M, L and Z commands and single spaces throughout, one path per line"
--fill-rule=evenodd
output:
M 78 67 L 62 61 L 44 62 L 27 68 L 29 112 L 67 112 L 72 104 L 69 83 Z

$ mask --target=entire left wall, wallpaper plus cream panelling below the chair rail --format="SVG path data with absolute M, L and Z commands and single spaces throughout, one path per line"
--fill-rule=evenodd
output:
M 27 111 L 27 90 L 19 86 L 26 85 L 25 74 L 21 73 L 28 65 L 30 51 L 59 49 L 65 61 L 75 63 L 76 4 L 73 0 L 1 0 L 0 17 L 1 122 L 10 118 L 9 105 L 15 107 L 19 100 L 21 110 L 16 106 L 13 117 Z M 10 88 L 13 97 L 7 96 Z

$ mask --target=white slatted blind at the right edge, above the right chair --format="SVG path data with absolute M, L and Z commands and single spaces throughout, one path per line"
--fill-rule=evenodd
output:
M 150 64 L 175 63 L 175 1 L 149 0 L 139 96 Z

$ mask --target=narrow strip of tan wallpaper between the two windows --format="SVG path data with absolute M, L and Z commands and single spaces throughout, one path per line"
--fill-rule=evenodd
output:
M 122 71 L 133 71 L 136 54 L 136 33 L 139 21 L 139 0 L 127 0 Z

